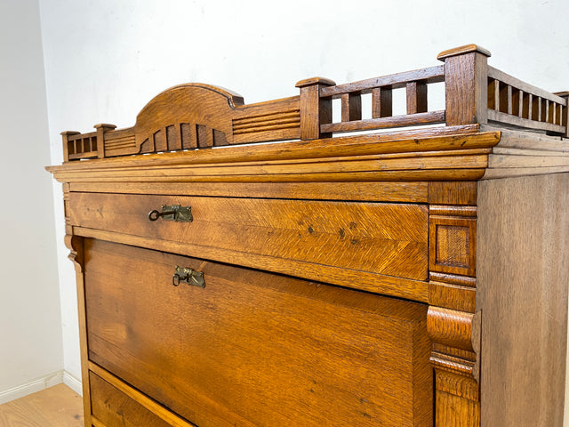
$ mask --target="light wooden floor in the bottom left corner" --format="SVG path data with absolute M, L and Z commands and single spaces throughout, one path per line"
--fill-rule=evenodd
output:
M 83 398 L 58 384 L 0 405 L 0 427 L 83 427 Z

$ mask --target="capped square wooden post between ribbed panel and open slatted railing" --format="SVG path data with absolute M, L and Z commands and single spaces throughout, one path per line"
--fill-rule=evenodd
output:
M 320 88 L 336 85 L 332 80 L 314 77 L 296 84 L 301 90 L 301 140 L 332 136 L 321 133 L 320 125 L 332 123 L 332 98 L 320 98 Z

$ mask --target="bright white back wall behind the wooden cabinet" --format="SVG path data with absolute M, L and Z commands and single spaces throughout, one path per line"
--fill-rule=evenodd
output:
M 477 43 L 494 67 L 551 92 L 569 89 L 566 0 L 40 0 L 40 9 L 53 164 L 60 131 L 131 126 L 156 93 L 183 82 L 265 101 L 296 94 L 302 78 L 345 83 L 422 68 L 437 65 L 438 52 Z M 79 376 L 59 193 L 55 205 L 65 368 Z

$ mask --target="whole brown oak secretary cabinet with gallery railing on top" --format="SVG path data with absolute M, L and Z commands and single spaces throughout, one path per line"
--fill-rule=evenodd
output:
M 569 93 L 489 56 L 63 133 L 85 425 L 561 427 Z

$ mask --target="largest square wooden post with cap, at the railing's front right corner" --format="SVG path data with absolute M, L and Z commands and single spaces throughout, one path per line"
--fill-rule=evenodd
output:
M 488 57 L 476 44 L 440 52 L 445 62 L 446 125 L 488 123 Z

